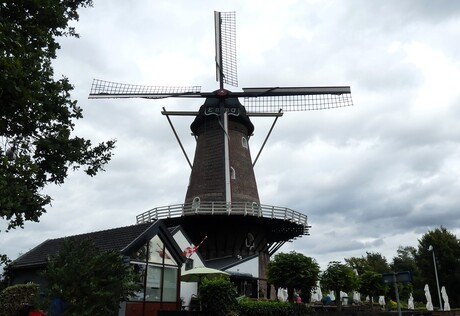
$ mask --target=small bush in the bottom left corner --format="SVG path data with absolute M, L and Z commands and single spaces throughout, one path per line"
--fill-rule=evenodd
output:
M 0 293 L 0 313 L 16 316 L 26 305 L 32 305 L 38 295 L 37 284 L 17 284 Z

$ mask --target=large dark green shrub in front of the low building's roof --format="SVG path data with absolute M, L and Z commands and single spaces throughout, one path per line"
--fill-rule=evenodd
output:
M 114 315 L 135 290 L 135 275 L 116 251 L 100 251 L 91 240 L 66 239 L 44 276 L 48 298 L 60 298 L 65 315 Z

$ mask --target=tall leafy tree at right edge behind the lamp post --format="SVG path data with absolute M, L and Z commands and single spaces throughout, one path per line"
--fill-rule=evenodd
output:
M 430 250 L 432 246 L 432 250 Z M 436 258 L 436 268 L 439 286 L 445 286 L 449 295 L 451 307 L 460 305 L 460 241 L 445 227 L 428 231 L 419 240 L 415 260 L 420 269 L 422 284 L 428 284 L 432 291 L 433 305 L 439 306 L 438 295 L 433 295 L 436 289 L 436 278 L 433 263 L 433 251 Z M 417 299 L 417 298 L 416 298 Z

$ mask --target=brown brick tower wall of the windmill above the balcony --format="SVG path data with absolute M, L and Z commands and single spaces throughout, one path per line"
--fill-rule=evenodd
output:
M 248 136 L 253 130 L 252 123 L 243 110 L 240 116 L 228 117 L 229 160 L 231 174 L 234 175 L 230 180 L 231 201 L 259 204 L 248 145 Z M 200 199 L 200 203 L 225 202 L 225 136 L 219 116 L 200 113 L 195 122 L 198 123 L 192 131 L 197 136 L 197 145 L 185 203 L 192 203 L 196 197 Z

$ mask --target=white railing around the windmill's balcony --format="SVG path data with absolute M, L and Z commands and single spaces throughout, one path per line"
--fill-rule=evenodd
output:
M 287 207 L 272 205 L 257 205 L 246 202 L 201 202 L 160 206 L 150 209 L 136 216 L 137 223 L 151 222 L 156 219 L 165 219 L 192 215 L 244 215 L 290 221 L 304 227 L 308 233 L 310 227 L 307 216 Z

